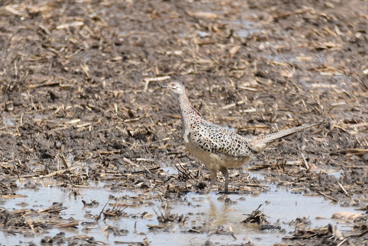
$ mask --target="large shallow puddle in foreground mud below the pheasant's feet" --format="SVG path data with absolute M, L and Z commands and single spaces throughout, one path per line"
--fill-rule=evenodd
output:
M 228 197 L 237 203 L 225 203 L 217 200 L 220 196 L 216 192 L 211 192 L 209 195 L 188 193 L 183 195 L 181 202 L 169 202 L 170 213 L 178 215 L 187 215 L 190 219 L 185 224 L 171 224 L 159 231 L 149 229 L 147 224 L 158 225 L 155 211 L 159 212 L 158 207 L 162 207 L 166 202 L 160 200 L 149 199 L 155 192 L 142 194 L 141 190 L 126 190 L 124 192 L 112 191 L 101 187 L 103 183 L 96 184 L 95 188 L 78 188 L 79 195 L 74 196 L 74 190 L 52 188 L 47 186 L 40 186 L 38 189 L 23 189 L 18 192 L 19 195 L 26 195 L 23 198 L 9 198 L 1 199 L 5 201 L 2 205 L 9 211 L 21 208 L 33 208 L 38 210 L 40 208 L 47 208 L 53 202 L 63 202 L 66 210 L 61 211 L 60 217 L 64 219 L 73 218 L 78 220 L 77 228 L 52 228 L 49 233 L 35 234 L 31 236 L 11 235 L 0 231 L 0 238 L 2 245 L 14 245 L 20 243 L 40 243 L 40 240 L 45 236 L 55 236 L 59 232 L 64 232 L 65 237 L 75 235 L 93 236 L 97 241 L 107 243 L 109 245 L 121 242 L 143 242 L 147 238 L 151 245 L 167 245 L 172 242 L 175 236 L 177 245 L 202 245 L 206 240 L 212 243 L 219 242 L 222 244 L 246 243 L 251 240 L 254 245 L 272 245 L 276 242 L 282 242 L 282 238 L 294 231 L 293 227 L 289 226 L 289 222 L 296 218 L 309 218 L 311 225 L 308 227 L 322 227 L 327 224 L 335 225 L 337 220 L 332 220 L 331 215 L 338 211 L 352 211 L 352 207 L 340 207 L 338 204 L 333 204 L 329 200 L 323 199 L 322 196 L 303 196 L 287 192 L 284 189 L 277 189 L 272 187 L 270 192 L 261 193 L 260 195 L 249 194 L 231 194 Z M 107 218 L 105 221 L 100 220 L 95 225 L 83 225 L 82 222 L 93 222 L 94 219 L 86 216 L 86 213 L 98 215 L 105 203 L 114 203 L 114 200 L 109 200 L 109 195 L 115 197 L 129 196 L 129 197 L 146 197 L 143 203 L 138 203 L 138 206 L 127 206 L 124 209 L 128 215 L 137 214 L 137 217 L 120 217 Z M 96 207 L 84 207 L 82 200 L 90 202 L 97 200 L 100 204 Z M 147 201 L 147 202 L 146 202 Z M 148 202 L 149 201 L 149 202 Z M 267 201 L 267 202 L 266 202 Z M 25 202 L 27 206 L 21 207 L 19 204 Z M 125 200 L 126 203 L 132 203 L 132 199 Z M 17 205 L 18 204 L 18 205 Z M 184 206 L 183 206 L 184 204 Z M 261 211 L 267 216 L 266 220 L 270 224 L 275 224 L 279 220 L 279 225 L 285 232 L 279 231 L 259 231 L 257 227 L 249 227 L 241 223 L 247 215 L 254 211 L 260 204 Z M 106 208 L 112 208 L 107 205 Z M 106 210 L 105 208 L 105 210 Z M 124 207 L 123 207 L 124 208 Z M 155 210 L 155 211 L 154 211 Z M 164 211 L 161 208 L 161 211 Z M 147 217 L 141 217 L 141 214 L 147 212 L 153 214 Z M 164 213 L 164 212 L 163 212 Z M 322 217 L 323 219 L 316 219 Z M 134 225 L 136 223 L 136 232 L 134 232 Z M 234 239 L 232 236 L 224 234 L 210 234 L 187 232 L 192 227 L 203 226 L 210 230 L 220 225 L 225 231 L 230 231 L 230 227 L 234 232 Z M 112 225 L 118 229 L 126 229 L 129 232 L 127 235 L 114 236 L 113 233 L 102 231 L 106 225 Z M 343 231 L 344 228 L 340 229 Z M 350 229 L 349 227 L 346 229 Z M 164 230 L 164 231 L 162 231 Z M 144 233 L 144 234 L 141 234 Z

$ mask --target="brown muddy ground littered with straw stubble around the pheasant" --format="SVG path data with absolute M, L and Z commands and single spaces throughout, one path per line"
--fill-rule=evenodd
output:
M 203 191 L 209 174 L 160 89 L 180 81 L 206 119 L 241 135 L 327 119 L 230 171 L 229 189 L 263 192 L 252 177 L 262 170 L 270 184 L 363 215 L 343 235 L 312 228 L 280 244 L 367 245 L 367 26 L 366 0 L 1 1 L 1 201 L 45 179 L 164 200 Z M 219 174 L 211 193 L 223 184 Z M 1 230 L 34 232 L 16 211 L 1 208 Z

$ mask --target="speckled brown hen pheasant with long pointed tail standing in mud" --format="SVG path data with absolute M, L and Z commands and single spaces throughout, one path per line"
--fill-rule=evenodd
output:
M 210 172 L 211 181 L 206 193 L 216 181 L 218 171 L 221 171 L 225 177 L 224 192 L 227 193 L 229 180 L 227 168 L 241 167 L 275 140 L 324 122 L 318 121 L 265 136 L 245 138 L 206 121 L 193 108 L 181 83 L 171 82 L 162 88 L 169 90 L 178 102 L 185 147 L 189 153 L 201 160 Z

